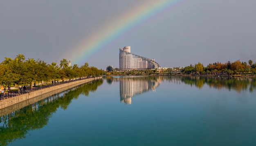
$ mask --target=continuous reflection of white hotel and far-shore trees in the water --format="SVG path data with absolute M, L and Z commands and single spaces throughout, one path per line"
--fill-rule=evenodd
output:
M 108 84 L 120 83 L 120 101 L 131 104 L 131 98 L 137 94 L 143 94 L 155 89 L 164 81 L 195 86 L 201 89 L 209 86 L 214 89 L 235 90 L 240 93 L 249 89 L 253 92 L 256 88 L 256 78 L 232 78 L 218 76 L 114 76 L 106 77 Z

